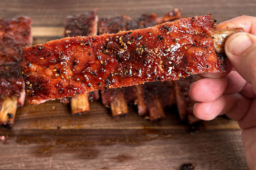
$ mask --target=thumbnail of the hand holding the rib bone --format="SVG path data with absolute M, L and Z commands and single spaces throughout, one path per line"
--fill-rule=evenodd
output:
M 253 41 L 247 34 L 237 34 L 228 43 L 227 50 L 233 55 L 240 55 Z

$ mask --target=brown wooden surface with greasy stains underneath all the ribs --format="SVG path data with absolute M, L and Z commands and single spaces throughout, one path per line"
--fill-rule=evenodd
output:
M 171 8 L 182 16 L 211 13 L 217 23 L 256 14 L 255 0 L 0 0 L 0 16 L 33 19 L 33 44 L 63 36 L 64 18 L 98 8 L 99 17 L 145 13 L 159 16 Z M 0 142 L 0 169 L 170 169 L 194 163 L 195 170 L 248 169 L 237 123 L 218 117 L 196 130 L 179 121 L 176 108 L 152 123 L 130 107 L 127 118 L 112 118 L 100 102 L 80 117 L 58 100 L 19 108 L 6 145 Z M 59 129 L 57 127 L 60 127 Z

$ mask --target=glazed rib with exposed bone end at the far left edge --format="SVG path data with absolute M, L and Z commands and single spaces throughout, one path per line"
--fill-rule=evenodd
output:
M 19 60 L 22 48 L 30 46 L 29 17 L 0 18 L 0 127 L 11 128 L 17 107 L 25 100 L 25 83 Z

